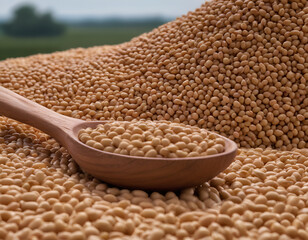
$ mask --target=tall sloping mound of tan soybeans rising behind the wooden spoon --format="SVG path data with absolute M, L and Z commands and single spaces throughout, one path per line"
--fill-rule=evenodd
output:
M 129 43 L 11 59 L 1 84 L 82 119 L 170 120 L 308 147 L 306 1 L 215 1 Z

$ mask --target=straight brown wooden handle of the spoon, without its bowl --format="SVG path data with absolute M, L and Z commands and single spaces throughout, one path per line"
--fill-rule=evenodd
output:
M 0 114 L 31 125 L 62 143 L 63 135 L 81 120 L 66 117 L 0 86 Z

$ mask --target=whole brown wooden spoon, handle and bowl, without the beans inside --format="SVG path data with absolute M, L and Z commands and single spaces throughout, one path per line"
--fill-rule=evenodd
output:
M 85 172 L 128 188 L 175 190 L 200 185 L 226 169 L 237 152 L 236 144 L 223 136 L 220 137 L 225 139 L 225 152 L 210 156 L 147 158 L 104 152 L 79 141 L 78 132 L 108 121 L 70 118 L 3 87 L 0 87 L 0 114 L 54 137 Z

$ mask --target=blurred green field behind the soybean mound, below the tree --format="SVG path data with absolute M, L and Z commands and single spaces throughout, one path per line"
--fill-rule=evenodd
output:
M 62 36 L 39 38 L 13 38 L 0 31 L 0 60 L 76 47 L 119 44 L 151 30 L 152 27 L 146 26 L 70 27 Z

